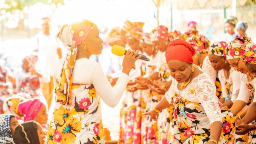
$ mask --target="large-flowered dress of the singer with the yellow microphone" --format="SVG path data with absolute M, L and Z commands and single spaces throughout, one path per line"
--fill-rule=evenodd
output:
M 55 92 L 58 81 L 55 82 Z M 100 97 L 92 84 L 72 84 L 74 105 L 56 102 L 54 115 L 48 128 L 49 144 L 103 144 L 104 130 L 101 120 Z

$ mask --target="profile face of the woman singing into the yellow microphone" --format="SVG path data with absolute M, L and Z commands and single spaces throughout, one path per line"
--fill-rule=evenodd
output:
M 86 50 L 90 54 L 97 55 L 101 54 L 102 52 L 103 40 L 100 38 L 99 34 L 99 29 L 97 26 L 95 26 L 84 40 L 84 43 L 86 44 Z

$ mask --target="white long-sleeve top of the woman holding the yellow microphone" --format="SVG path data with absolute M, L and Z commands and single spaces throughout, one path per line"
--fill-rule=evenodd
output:
M 60 80 L 64 60 L 65 58 L 62 58 L 57 62 L 54 70 L 54 79 Z M 93 84 L 100 98 L 110 107 L 114 107 L 118 104 L 128 81 L 128 75 L 121 73 L 116 82 L 116 86 L 112 88 L 100 64 L 93 60 L 88 60 L 87 58 L 76 60 L 72 74 L 72 83 Z

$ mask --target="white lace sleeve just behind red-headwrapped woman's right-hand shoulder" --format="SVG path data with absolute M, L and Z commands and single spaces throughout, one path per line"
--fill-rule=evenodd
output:
M 202 70 L 208 74 L 208 76 L 210 76 L 210 78 L 212 79 L 213 82 L 215 82 L 216 80 L 216 75 L 217 75 L 217 72 L 216 70 L 214 70 L 214 68 L 211 66 L 211 62 L 209 60 L 209 56 L 206 56 L 204 58 L 204 62 L 203 62 L 203 65 L 202 65 Z

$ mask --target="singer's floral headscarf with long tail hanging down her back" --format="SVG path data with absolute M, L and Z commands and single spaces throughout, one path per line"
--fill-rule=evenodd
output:
M 89 20 L 72 24 L 64 24 L 58 32 L 58 39 L 69 46 L 68 54 L 62 66 L 60 83 L 57 90 L 57 102 L 71 105 L 72 71 L 76 62 L 77 45 L 84 42 L 90 31 L 96 25 Z

